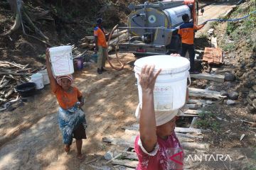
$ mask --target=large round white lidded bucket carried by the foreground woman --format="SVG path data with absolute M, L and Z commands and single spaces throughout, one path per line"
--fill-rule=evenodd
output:
M 142 104 L 142 87 L 139 75 L 145 65 L 155 65 L 155 71 L 161 69 L 154 87 L 154 109 L 156 112 L 175 111 L 186 101 L 187 78 L 190 63 L 185 57 L 154 55 L 143 57 L 134 62 L 135 77 L 138 82 L 139 103 Z

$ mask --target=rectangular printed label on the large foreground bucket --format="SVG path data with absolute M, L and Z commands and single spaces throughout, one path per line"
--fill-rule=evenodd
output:
M 154 108 L 156 111 L 170 111 L 173 108 L 173 89 L 171 86 L 155 86 Z

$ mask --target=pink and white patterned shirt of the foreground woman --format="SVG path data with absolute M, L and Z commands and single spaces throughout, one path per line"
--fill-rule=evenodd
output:
M 183 149 L 175 133 L 170 135 L 167 140 L 157 137 L 156 147 L 150 153 L 146 152 L 138 135 L 134 149 L 139 158 L 137 170 L 183 169 Z

